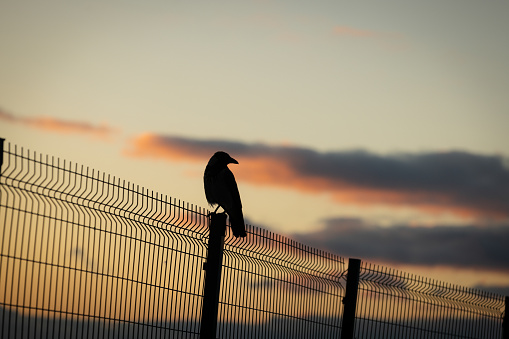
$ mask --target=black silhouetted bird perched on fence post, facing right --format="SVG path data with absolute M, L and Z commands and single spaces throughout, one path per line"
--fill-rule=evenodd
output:
M 214 213 L 221 207 L 230 217 L 233 235 L 243 238 L 246 236 L 246 229 L 242 202 L 235 177 L 228 168 L 228 164 L 238 163 L 226 152 L 214 153 L 205 167 L 203 184 L 207 202 L 211 206 L 217 205 Z

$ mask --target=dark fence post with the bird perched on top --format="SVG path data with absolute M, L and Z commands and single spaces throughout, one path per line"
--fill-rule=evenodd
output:
M 205 287 L 201 310 L 200 339 L 216 339 L 225 231 L 226 214 L 212 213 L 209 223 L 207 261 L 203 267 L 205 270 Z

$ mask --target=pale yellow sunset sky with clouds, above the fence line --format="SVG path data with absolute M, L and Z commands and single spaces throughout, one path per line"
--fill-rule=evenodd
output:
M 509 294 L 507 1 L 2 1 L 0 137 Z

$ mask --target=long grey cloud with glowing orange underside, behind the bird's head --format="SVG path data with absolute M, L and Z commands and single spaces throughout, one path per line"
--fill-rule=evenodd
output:
M 363 151 L 202 140 L 145 133 L 125 154 L 205 164 L 217 150 L 240 161 L 239 180 L 327 193 L 338 203 L 406 206 L 429 213 L 507 218 L 509 169 L 499 156 L 467 152 L 377 155 Z

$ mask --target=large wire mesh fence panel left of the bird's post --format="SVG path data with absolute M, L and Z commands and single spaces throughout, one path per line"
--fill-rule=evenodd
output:
M 58 159 L 7 150 L 3 338 L 197 338 L 206 213 Z

